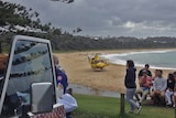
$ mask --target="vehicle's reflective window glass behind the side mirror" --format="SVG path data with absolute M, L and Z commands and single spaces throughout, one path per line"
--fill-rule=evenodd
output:
M 14 46 L 3 114 L 13 115 L 22 104 L 30 105 L 32 83 L 54 83 L 47 43 L 18 40 Z

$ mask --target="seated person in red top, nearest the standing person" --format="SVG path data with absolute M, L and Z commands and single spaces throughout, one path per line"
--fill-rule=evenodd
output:
M 152 86 L 152 77 L 147 75 L 146 71 L 143 71 L 143 76 L 139 79 L 139 84 L 140 88 L 135 90 L 135 97 L 141 104 L 146 98 L 146 95 L 150 93 L 150 88 Z M 139 97 L 139 94 L 142 94 L 141 98 Z

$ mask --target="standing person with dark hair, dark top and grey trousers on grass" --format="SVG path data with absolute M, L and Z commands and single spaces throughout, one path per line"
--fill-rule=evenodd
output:
M 136 89 L 135 84 L 135 72 L 136 68 L 134 67 L 134 62 L 129 60 L 127 61 L 127 74 L 124 78 L 124 86 L 127 88 L 127 100 L 130 104 L 130 114 L 133 114 L 136 110 L 136 114 L 140 114 L 142 106 L 140 106 L 138 103 L 134 101 L 133 96 L 134 92 Z

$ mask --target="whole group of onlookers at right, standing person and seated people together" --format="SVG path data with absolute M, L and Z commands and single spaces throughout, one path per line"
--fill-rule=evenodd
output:
M 176 72 L 169 73 L 167 79 L 163 77 L 162 69 L 155 69 L 152 75 L 150 65 L 139 72 L 139 86 L 136 87 L 136 68 L 132 60 L 127 61 L 127 74 L 124 86 L 127 88 L 127 100 L 130 104 L 130 114 L 140 114 L 143 101 L 151 97 L 153 105 L 176 106 Z M 135 101 L 133 96 L 136 97 Z

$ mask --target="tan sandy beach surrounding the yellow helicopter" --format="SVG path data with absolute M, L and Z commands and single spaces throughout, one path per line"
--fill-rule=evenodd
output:
M 92 51 L 92 52 L 74 52 L 74 53 L 55 53 L 59 58 L 61 66 L 66 71 L 68 76 L 68 83 L 79 84 L 91 87 L 94 89 L 112 90 L 124 93 L 124 75 L 125 66 L 111 64 L 103 71 L 94 71 L 88 63 L 88 55 L 92 53 L 127 53 L 136 51 L 148 50 L 117 50 L 117 51 Z M 134 62 L 135 63 L 135 62 Z M 147 63 L 147 62 L 146 62 Z M 136 67 L 136 74 L 141 67 Z M 154 69 L 151 68 L 152 72 Z M 163 69 L 164 77 L 167 77 L 168 73 L 173 73 L 172 69 Z M 138 83 L 138 79 L 136 79 Z

